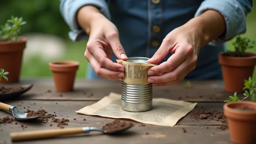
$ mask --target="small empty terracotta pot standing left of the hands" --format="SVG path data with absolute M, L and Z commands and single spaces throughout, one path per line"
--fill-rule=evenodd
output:
M 79 63 L 60 61 L 49 63 L 56 91 L 72 91 Z

